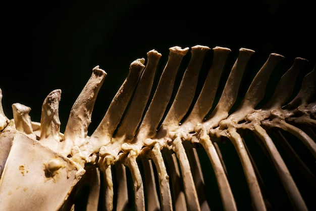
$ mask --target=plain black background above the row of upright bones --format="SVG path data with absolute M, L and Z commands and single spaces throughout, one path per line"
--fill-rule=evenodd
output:
M 268 85 L 272 93 L 274 80 L 291 66 L 295 57 L 309 60 L 300 79 L 316 62 L 315 12 L 307 1 L 99 0 L 0 4 L 0 88 L 4 111 L 13 118 L 11 105 L 19 102 L 32 108 L 33 121 L 40 121 L 44 98 L 52 90 L 61 89 L 62 132 L 72 104 L 93 67 L 100 65 L 108 75 L 95 104 L 90 133 L 127 76 L 130 63 L 145 58 L 152 49 L 163 55 L 160 69 L 172 46 L 228 47 L 232 50 L 228 65 L 233 64 L 239 48 L 255 50 L 240 92 L 245 92 L 246 81 L 251 80 L 270 53 L 285 56 Z

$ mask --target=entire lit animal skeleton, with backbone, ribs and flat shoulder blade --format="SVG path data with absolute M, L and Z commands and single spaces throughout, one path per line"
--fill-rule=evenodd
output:
M 155 50 L 131 63 L 91 136 L 107 75 L 98 66 L 64 134 L 61 90 L 44 99 L 40 122 L 20 103 L 9 120 L 0 104 L 1 210 L 315 210 L 315 68 L 299 81 L 308 61 L 295 58 L 274 85 L 282 55 L 256 69 L 250 49 L 231 67 L 228 48 L 169 50 L 161 75 Z

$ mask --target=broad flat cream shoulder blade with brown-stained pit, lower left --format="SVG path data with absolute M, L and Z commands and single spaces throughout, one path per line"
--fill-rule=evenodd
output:
M 1 209 L 59 210 L 85 171 L 17 130 L 11 139 L 0 179 Z

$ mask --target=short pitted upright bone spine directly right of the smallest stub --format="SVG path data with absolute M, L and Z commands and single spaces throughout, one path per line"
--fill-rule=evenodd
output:
M 61 140 L 59 120 L 59 102 L 61 100 L 61 90 L 52 91 L 45 98 L 42 105 L 41 119 L 40 119 L 40 141 L 51 148 L 58 150 L 58 144 Z

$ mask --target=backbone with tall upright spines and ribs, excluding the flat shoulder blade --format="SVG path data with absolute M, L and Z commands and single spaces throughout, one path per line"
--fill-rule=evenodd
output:
M 209 210 L 212 206 L 224 210 L 244 209 L 235 198 L 238 194 L 248 193 L 233 191 L 234 172 L 226 166 L 230 155 L 225 153 L 228 151 L 224 146 L 230 143 L 236 151 L 234 158 L 238 157 L 238 163 L 241 163 L 242 181 L 247 184 L 247 190 L 243 190 L 250 195 L 247 203 L 251 205 L 245 207 L 279 209 L 282 205 L 269 197 L 271 193 L 262 179 L 262 174 L 267 173 L 262 173 L 252 157 L 251 148 L 247 147 L 253 146 L 251 142 L 257 143 L 266 153 L 272 166 L 269 169 L 276 170 L 285 190 L 282 193 L 287 194 L 291 202 L 290 207 L 295 210 L 314 209 L 316 205 L 310 198 L 316 195 L 315 163 L 306 162 L 302 153 L 308 154 L 306 157 L 310 159 L 316 157 L 313 129 L 316 125 L 315 68 L 304 77 L 296 97 L 290 99 L 296 76 L 307 62 L 296 58 L 280 79 L 274 95 L 257 107 L 264 98 L 272 71 L 283 59 L 279 54 L 271 54 L 235 108 L 243 71 L 254 51 L 240 49 L 230 75 L 221 77 L 230 49 L 213 48 L 212 65 L 201 90 L 197 90 L 199 70 L 208 51 L 210 49 L 206 46 L 191 48 L 190 61 L 178 88 L 174 87 L 177 71 L 189 48 L 170 48 L 168 63 L 154 92 L 151 90 L 154 74 L 162 55 L 152 50 L 147 53 L 146 66 L 144 59 L 132 62 L 126 80 L 91 136 L 87 135 L 91 113 L 106 76 L 98 66 L 93 69 L 87 85 L 74 103 L 64 134 L 59 131 L 58 117 L 61 91 L 56 90 L 43 103 L 40 124 L 30 121 L 30 109 L 21 104 L 13 105 L 14 121 L 11 122 L 15 124 L 9 123 L 2 112 L 2 128 L 9 123 L 2 139 L 7 136 L 5 132 L 17 130 L 33 140 L 37 139 L 76 166 L 80 174 L 75 177 L 75 182 L 72 181 L 71 191 L 58 207 L 60 210 L 82 209 L 78 197 L 85 191 L 89 193 L 85 193 L 87 210 L 125 210 L 131 204 L 136 210 Z M 226 86 L 213 106 L 221 78 L 227 78 Z M 151 93 L 154 93 L 152 97 Z M 253 137 L 250 142 L 249 137 Z M 296 150 L 296 142 L 304 145 L 302 151 Z M 296 185 L 299 181 L 291 176 L 293 172 L 289 171 L 280 150 L 293 159 L 296 171 L 310 184 L 309 187 Z M 4 157 L 3 163 L 10 155 Z M 208 160 L 203 161 L 201 157 Z M 208 181 L 209 170 L 205 169 L 205 163 L 213 169 L 210 171 L 214 172 L 216 182 Z M 47 166 L 49 162 L 44 169 L 45 175 L 49 172 L 46 177 L 55 179 L 55 172 L 59 170 Z M 6 200 L 8 196 L 4 196 L 8 195 L 5 192 L 6 178 L 10 172 L 5 167 L 1 173 L 1 204 L 10 207 L 10 200 Z M 55 183 L 58 185 L 58 180 Z M 129 191 L 130 183 L 134 194 Z M 210 191 L 217 188 L 206 183 L 217 184 L 221 201 L 209 199 Z M 128 194 L 133 194 L 134 199 Z M 214 206 L 213 203 L 222 205 Z

